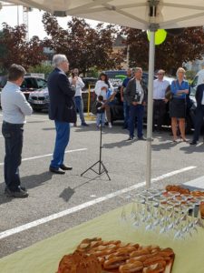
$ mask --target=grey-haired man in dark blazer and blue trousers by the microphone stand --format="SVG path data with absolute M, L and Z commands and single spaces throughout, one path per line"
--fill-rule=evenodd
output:
M 47 86 L 50 96 L 49 117 L 54 120 L 56 129 L 53 160 L 50 171 L 63 175 L 67 167 L 63 164 L 65 148 L 70 138 L 70 123 L 76 122 L 76 111 L 73 103 L 74 85 L 71 86 L 65 73 L 69 70 L 69 62 L 64 55 L 53 56 L 53 72 L 48 77 Z

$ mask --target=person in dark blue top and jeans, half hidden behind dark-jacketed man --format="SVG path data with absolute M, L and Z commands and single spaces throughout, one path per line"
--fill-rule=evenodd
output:
M 121 102 L 123 102 L 123 116 L 124 116 L 124 124 L 122 126 L 123 129 L 127 129 L 129 127 L 129 118 L 130 118 L 130 105 L 127 102 L 126 98 L 126 87 L 132 77 L 131 68 L 127 69 L 127 77 L 123 80 L 121 85 Z

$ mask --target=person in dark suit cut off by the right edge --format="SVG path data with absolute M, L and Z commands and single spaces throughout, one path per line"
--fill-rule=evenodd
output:
M 204 117 L 204 84 L 201 84 L 197 87 L 196 90 L 196 101 L 197 101 L 197 108 L 196 108 L 196 116 L 195 116 L 195 131 L 193 134 L 193 139 L 189 143 L 190 145 L 196 145 L 197 141 L 199 141 L 199 132 L 200 128 L 203 123 Z

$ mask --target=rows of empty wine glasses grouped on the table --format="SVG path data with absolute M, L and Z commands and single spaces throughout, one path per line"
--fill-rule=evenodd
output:
M 160 189 L 143 190 L 128 197 L 132 201 L 131 214 L 122 207 L 121 221 L 130 218 L 135 228 L 154 230 L 174 239 L 192 237 L 204 228 L 199 209 L 204 197 Z

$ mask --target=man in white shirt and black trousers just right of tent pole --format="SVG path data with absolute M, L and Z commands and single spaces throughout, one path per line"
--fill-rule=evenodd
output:
M 153 82 L 153 130 L 155 130 L 155 125 L 157 125 L 159 133 L 161 132 L 166 112 L 165 93 L 167 87 L 170 86 L 170 82 L 163 79 L 164 75 L 165 71 L 160 69 L 157 74 L 158 78 Z

